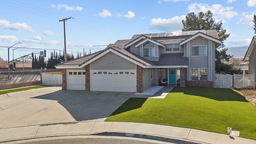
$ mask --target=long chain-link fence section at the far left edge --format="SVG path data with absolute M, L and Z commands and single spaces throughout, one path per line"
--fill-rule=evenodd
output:
M 0 90 L 41 84 L 41 70 L 0 72 Z

